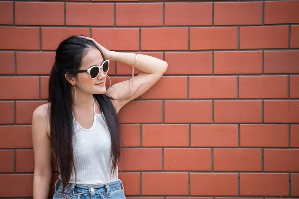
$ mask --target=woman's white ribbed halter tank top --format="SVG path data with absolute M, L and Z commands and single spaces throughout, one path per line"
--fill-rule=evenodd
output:
M 110 161 L 110 132 L 104 121 L 103 112 L 100 114 L 96 113 L 94 101 L 96 100 L 93 99 L 94 121 L 92 127 L 89 129 L 81 127 L 73 115 L 75 133 L 73 139 L 74 163 L 77 181 L 75 182 L 75 174 L 74 170 L 72 170 L 69 183 L 102 185 L 118 180 L 118 168 L 114 174 L 111 175 L 110 172 L 112 166 Z

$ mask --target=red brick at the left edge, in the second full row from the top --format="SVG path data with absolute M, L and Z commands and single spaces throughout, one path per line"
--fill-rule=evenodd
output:
M 38 27 L 0 27 L 0 49 L 39 50 Z

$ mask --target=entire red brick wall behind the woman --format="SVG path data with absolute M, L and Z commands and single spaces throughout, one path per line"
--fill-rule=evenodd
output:
M 119 114 L 128 199 L 299 198 L 298 0 L 0 1 L 0 198 L 32 198 L 32 113 L 81 34 L 168 62 Z

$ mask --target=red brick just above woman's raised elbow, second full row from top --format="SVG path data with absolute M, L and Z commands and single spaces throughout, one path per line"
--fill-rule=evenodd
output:
M 141 28 L 141 50 L 187 50 L 188 28 Z

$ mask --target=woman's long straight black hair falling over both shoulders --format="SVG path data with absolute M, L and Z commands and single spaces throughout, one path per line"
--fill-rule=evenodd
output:
M 62 41 L 55 56 L 49 79 L 49 122 L 53 154 L 57 161 L 64 192 L 72 168 L 76 174 L 73 153 L 73 97 L 72 85 L 65 78 L 81 66 L 82 58 L 91 48 L 97 48 L 91 40 L 78 36 L 71 36 Z M 71 75 L 71 74 L 70 74 Z M 73 74 L 74 75 L 74 74 Z M 75 76 L 75 75 L 74 75 Z M 111 172 L 116 172 L 120 157 L 120 123 L 111 96 L 93 94 L 104 114 L 104 119 L 111 135 Z M 115 100 L 115 99 L 114 99 Z M 77 180 L 77 178 L 76 178 Z

